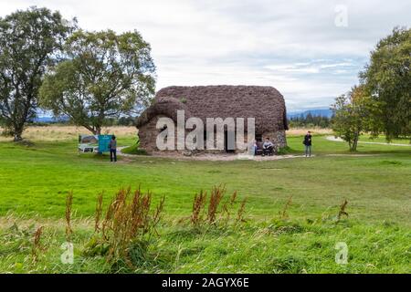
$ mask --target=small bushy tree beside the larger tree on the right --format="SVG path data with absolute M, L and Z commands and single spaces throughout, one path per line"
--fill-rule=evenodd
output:
M 354 86 L 346 95 L 335 99 L 332 105 L 332 130 L 337 137 L 348 142 L 350 151 L 357 150 L 361 133 L 372 130 L 376 125 L 372 119 L 374 107 L 374 102 L 364 86 Z

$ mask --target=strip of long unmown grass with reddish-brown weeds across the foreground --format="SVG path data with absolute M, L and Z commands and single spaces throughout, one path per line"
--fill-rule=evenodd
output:
M 50 271 L 65 273 L 307 273 L 335 265 L 334 245 L 346 241 L 353 253 L 350 255 L 357 260 L 350 266 L 351 271 L 358 272 L 371 268 L 370 262 L 387 262 L 387 251 L 370 247 L 368 241 L 392 245 L 391 241 L 385 242 L 385 235 L 391 232 L 396 233 L 398 240 L 406 241 L 406 234 L 395 225 L 379 226 L 382 231 L 375 233 L 375 228 L 342 220 L 342 216 L 348 215 L 346 200 L 327 215 L 301 221 L 290 219 L 290 197 L 271 218 L 246 222 L 247 201 L 237 202 L 237 192 L 227 195 L 225 187 L 219 185 L 209 193 L 196 193 L 189 220 L 185 217 L 176 224 L 175 220 L 161 220 L 164 197 L 153 204 L 152 193 L 143 193 L 141 189 L 121 189 L 106 205 L 103 199 L 103 193 L 99 193 L 95 216 L 88 219 L 86 229 L 85 225 L 80 227 L 81 221 L 72 218 L 73 193 L 68 193 L 66 218 L 61 219 L 59 229 L 43 222 L 45 227 L 18 228 L 15 224 L 5 232 L 0 230 L 0 270 L 42 272 L 47 266 Z M 238 224 L 241 222 L 245 224 Z M 71 225 L 76 227 L 74 231 Z M 59 262 L 59 243 L 67 239 L 68 230 L 77 253 L 71 266 Z M 359 236 L 364 232 L 367 240 Z M 359 239 L 362 241 L 358 242 Z M 368 252 L 367 248 L 372 250 Z M 395 248 L 406 253 L 409 247 Z M 360 269 L 358 263 L 362 263 L 364 252 L 368 266 Z M 19 258 L 24 260 L 19 263 Z M 2 260 L 17 262 L 7 264 L 5 269 Z M 333 271 L 348 270 L 338 266 Z

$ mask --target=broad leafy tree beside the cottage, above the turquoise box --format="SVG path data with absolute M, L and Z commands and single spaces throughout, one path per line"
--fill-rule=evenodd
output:
M 68 38 L 66 60 L 51 68 L 40 90 L 41 105 L 55 116 L 100 134 L 108 118 L 142 109 L 153 99 L 151 48 L 137 32 L 84 32 Z

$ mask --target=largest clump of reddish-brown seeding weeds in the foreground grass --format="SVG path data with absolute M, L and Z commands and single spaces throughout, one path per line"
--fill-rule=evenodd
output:
M 132 245 L 146 246 L 159 223 L 164 197 L 152 207 L 152 193 L 121 189 L 104 211 L 103 194 L 97 197 L 94 231 L 86 249 L 87 255 L 104 255 L 113 264 L 134 266 L 130 256 Z

